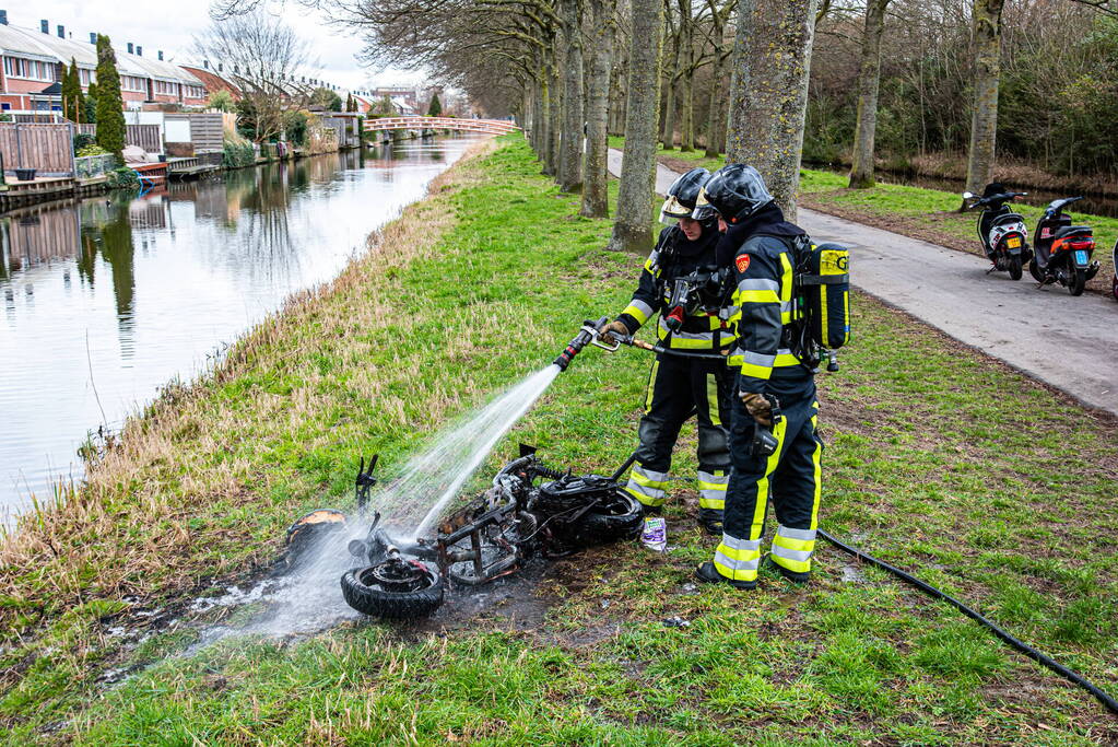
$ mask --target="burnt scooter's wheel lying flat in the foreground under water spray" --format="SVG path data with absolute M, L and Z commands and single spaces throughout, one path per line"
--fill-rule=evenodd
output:
M 342 576 L 345 603 L 371 617 L 415 620 L 443 604 L 443 577 L 418 560 L 389 559 Z

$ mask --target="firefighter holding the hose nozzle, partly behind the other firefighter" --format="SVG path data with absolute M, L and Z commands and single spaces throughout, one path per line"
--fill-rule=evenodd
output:
M 660 316 L 656 337 L 664 351 L 657 353 L 648 376 L 641 445 L 626 490 L 646 513 L 660 512 L 667 494 L 672 448 L 680 428 L 694 415 L 699 518 L 709 532 L 721 535 L 730 472 L 726 427 L 732 386 L 724 353 L 735 337 L 719 315 L 724 273 L 716 264 L 717 224 L 691 218 L 709 176 L 705 169 L 692 169 L 669 188 L 660 217 L 674 225 L 660 233 L 628 306 L 601 332 L 607 339 L 610 332 L 631 335 Z

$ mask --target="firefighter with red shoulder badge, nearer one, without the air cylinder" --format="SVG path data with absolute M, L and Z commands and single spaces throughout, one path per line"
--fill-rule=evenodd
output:
M 818 401 L 813 367 L 794 319 L 793 275 L 804 230 L 785 221 L 756 169 L 733 163 L 703 186 L 693 212 L 717 214 L 724 234 L 719 258 L 732 262 L 736 290 L 729 319 L 738 341 L 730 423 L 730 473 L 722 541 L 697 575 L 738 588 L 757 585 L 767 503 L 777 528 L 769 562 L 804 583 L 812 568 L 819 510 L 816 432 Z M 771 453 L 767 453 L 771 451 Z

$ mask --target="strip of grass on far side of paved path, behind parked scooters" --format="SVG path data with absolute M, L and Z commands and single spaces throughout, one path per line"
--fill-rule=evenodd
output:
M 624 148 L 624 138 L 610 138 L 613 148 Z M 679 150 L 656 151 L 661 163 L 676 171 L 703 167 L 713 171 L 726 164 L 722 158 L 705 158 L 702 151 L 684 153 Z M 945 192 L 922 187 L 878 183 L 872 189 L 849 189 L 846 177 L 832 171 L 802 169 L 799 181 L 799 205 L 830 215 L 884 228 L 903 236 L 919 238 L 959 252 L 982 256 L 982 246 L 975 234 L 976 212 L 958 211 L 961 198 L 955 192 Z M 1007 183 L 1013 183 L 1008 181 Z M 1044 212 L 1042 207 L 1015 204 L 1014 209 L 1024 218 L 1030 233 Z M 1114 275 L 1111 249 L 1118 240 L 1118 218 L 1071 212 L 1072 219 L 1082 221 L 1095 229 L 1097 248 L 1095 258 L 1101 264 L 1099 274 L 1087 284 L 1096 293 L 1110 292 Z M 1022 281 L 1032 282 L 1029 274 Z

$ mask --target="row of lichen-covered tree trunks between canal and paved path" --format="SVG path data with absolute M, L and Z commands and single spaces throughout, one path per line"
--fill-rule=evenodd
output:
M 660 117 L 661 69 L 665 12 L 663 0 L 631 0 L 631 32 L 626 55 L 627 91 L 624 100 L 625 158 L 622 166 L 617 215 L 610 248 L 647 250 L 652 243 L 652 209 L 657 140 L 671 142 L 674 133 L 675 88 L 682 105 L 684 150 L 694 148 L 694 86 L 697 67 L 691 39 L 691 0 L 679 0 L 681 27 L 675 31 L 670 70 L 665 76 L 667 101 Z M 738 34 L 732 54 L 723 36 L 730 7 L 714 12 L 714 55 L 709 60 L 720 74 L 729 59 L 731 85 L 728 115 L 717 89 L 709 92 L 705 123 L 708 150 L 716 149 L 721 122 L 727 122 L 728 159 L 751 163 L 765 176 L 769 189 L 789 219 L 795 219 L 795 192 L 811 48 L 818 0 L 738 0 Z M 581 192 L 580 214 L 608 215 L 607 132 L 617 19 L 612 0 L 558 0 L 552 44 L 540 45 L 537 68 L 523 105 L 531 143 L 543 172 L 568 192 Z M 717 78 L 716 78 L 717 79 Z M 717 86 L 714 86 L 717 88 Z M 615 114 L 615 122 L 618 116 Z M 659 125 L 659 126 L 657 126 Z M 663 136 L 661 136 L 663 134 Z M 714 151 L 717 155 L 717 150 Z

